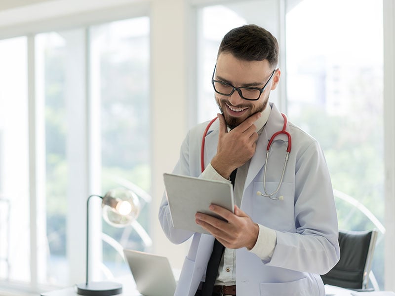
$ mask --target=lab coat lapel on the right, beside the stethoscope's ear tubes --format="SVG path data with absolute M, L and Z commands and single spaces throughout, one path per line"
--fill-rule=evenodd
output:
M 276 106 L 273 103 L 269 103 L 272 107 L 272 111 L 270 112 L 268 121 L 262 131 L 261 136 L 258 139 L 256 144 L 256 150 L 254 156 L 251 158 L 251 162 L 249 165 L 247 178 L 245 179 L 244 190 L 251 184 L 252 180 L 256 177 L 259 171 L 265 164 L 266 160 L 266 150 L 269 144 L 269 140 L 272 135 L 280 130 L 282 130 L 282 126 L 284 124 L 284 119 L 282 118 L 281 113 L 278 111 Z M 289 132 L 288 126 L 286 130 Z M 276 140 L 283 140 L 288 142 L 288 138 L 285 135 L 278 135 Z M 269 153 L 270 156 L 270 153 Z

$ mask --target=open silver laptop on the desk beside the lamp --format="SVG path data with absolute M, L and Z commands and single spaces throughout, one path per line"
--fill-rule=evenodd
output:
M 166 257 L 123 249 L 136 287 L 144 296 L 173 296 L 176 280 Z

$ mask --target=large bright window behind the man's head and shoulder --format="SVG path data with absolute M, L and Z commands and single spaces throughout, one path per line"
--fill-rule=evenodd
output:
M 385 232 L 382 4 L 287 0 L 280 7 L 280 2 L 229 1 L 197 9 L 196 122 L 218 112 L 210 78 L 223 35 L 247 23 L 268 29 L 280 43 L 280 84 L 286 85 L 286 92 L 279 85 L 270 101 L 324 149 L 339 227 Z M 383 238 L 372 268 L 381 288 Z

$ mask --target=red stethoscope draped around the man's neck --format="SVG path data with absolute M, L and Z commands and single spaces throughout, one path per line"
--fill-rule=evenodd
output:
M 281 113 L 282 117 L 284 118 L 284 125 L 282 126 L 282 130 L 276 132 L 273 134 L 273 136 L 270 138 L 269 143 L 268 143 L 268 147 L 266 148 L 266 160 L 265 160 L 265 169 L 263 171 L 263 190 L 265 191 L 265 193 L 262 193 L 261 191 L 258 191 L 256 194 L 257 195 L 262 195 L 265 197 L 269 197 L 270 199 L 279 199 L 279 200 L 283 200 L 284 197 L 283 196 L 279 196 L 279 197 L 273 197 L 278 190 L 281 187 L 282 184 L 282 180 L 284 179 L 284 174 L 285 174 L 285 168 L 287 166 L 287 162 L 288 162 L 288 156 L 289 156 L 289 152 L 291 152 L 291 135 L 285 130 L 285 128 L 287 127 L 287 123 L 288 123 L 288 119 L 287 116 L 284 113 Z M 205 142 L 205 138 L 207 136 L 207 132 L 208 129 L 210 128 L 210 126 L 213 124 L 213 122 L 217 119 L 217 117 L 215 117 L 214 119 L 212 119 L 208 124 L 206 129 L 204 130 L 203 133 L 203 137 L 201 139 L 201 151 L 200 151 L 200 167 L 201 167 L 201 171 L 204 171 L 204 142 Z M 288 137 L 288 145 L 287 145 L 287 153 L 285 155 L 285 160 L 284 160 L 284 166 L 282 168 L 282 173 L 281 173 L 281 178 L 280 178 L 280 182 L 278 182 L 277 188 L 275 191 L 273 191 L 272 193 L 268 193 L 268 191 L 266 190 L 266 169 L 268 167 L 268 159 L 269 159 L 269 151 L 270 151 L 270 147 L 272 146 L 273 141 L 275 140 L 275 138 L 278 135 L 284 134 Z

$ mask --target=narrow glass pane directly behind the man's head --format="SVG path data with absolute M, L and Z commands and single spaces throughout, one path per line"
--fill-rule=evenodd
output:
M 198 9 L 197 122 L 211 120 L 218 113 L 211 76 L 222 37 L 231 29 L 245 24 L 262 26 L 277 37 L 277 16 L 277 2 L 274 0 L 230 1 Z M 277 101 L 276 91 L 271 93 L 271 101 Z

